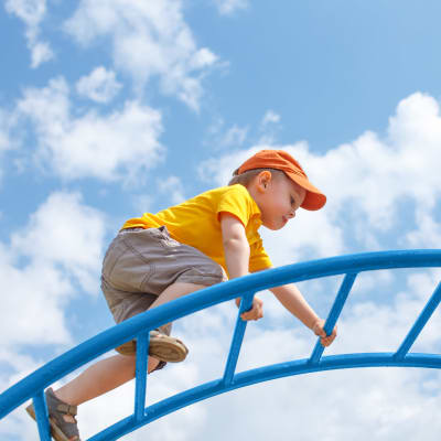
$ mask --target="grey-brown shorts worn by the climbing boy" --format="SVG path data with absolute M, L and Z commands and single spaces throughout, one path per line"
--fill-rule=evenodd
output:
M 227 280 L 224 269 L 198 249 L 172 239 L 165 226 L 122 229 L 103 263 L 101 289 L 117 323 L 147 311 L 175 282 L 209 287 Z M 160 330 L 168 335 L 171 324 Z

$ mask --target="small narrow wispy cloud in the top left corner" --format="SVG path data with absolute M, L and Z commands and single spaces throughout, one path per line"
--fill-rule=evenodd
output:
M 31 51 L 31 67 L 53 58 L 53 51 L 47 42 L 41 42 L 40 24 L 46 14 L 46 0 L 7 0 L 6 10 L 17 15 L 26 25 L 28 46 Z

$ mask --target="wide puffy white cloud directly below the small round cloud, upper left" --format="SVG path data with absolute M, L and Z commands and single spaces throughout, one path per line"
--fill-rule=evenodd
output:
M 42 89 L 30 88 L 19 101 L 17 114 L 29 118 L 37 137 L 36 159 L 63 179 L 86 176 L 130 182 L 154 166 L 162 157 L 158 141 L 161 114 L 137 101 L 101 116 L 89 110 L 71 111 L 69 90 L 63 78 Z

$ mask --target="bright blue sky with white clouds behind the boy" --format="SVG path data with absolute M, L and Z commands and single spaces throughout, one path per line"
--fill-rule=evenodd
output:
M 261 148 L 292 153 L 329 197 L 320 213 L 261 232 L 276 265 L 438 248 L 440 13 L 435 0 L 6 0 L 0 275 L 11 291 L 3 291 L 0 389 L 112 325 L 99 269 L 127 218 L 224 185 Z M 439 276 L 361 278 L 331 353 L 394 349 Z M 335 287 L 332 280 L 301 289 L 324 315 Z M 304 356 L 314 342 L 262 297 L 266 319 L 249 326 L 243 368 Z M 153 400 L 213 377 L 234 313 L 223 305 L 176 324 L 194 356 L 152 377 Z M 418 341 L 421 351 L 441 349 L 440 324 L 438 313 Z M 286 438 L 299 415 L 301 440 L 373 431 L 398 440 L 409 430 L 434 440 L 439 380 L 437 373 L 394 369 L 279 380 L 194 406 L 127 439 L 217 440 L 216 427 L 223 438 Z M 363 381 L 376 386 L 363 394 Z M 121 418 L 131 387 L 84 405 L 82 433 Z M 291 398 L 287 388 L 295 390 Z M 265 408 L 271 418 L 263 423 L 259 404 L 269 401 L 278 405 Z M 314 412 L 326 428 L 314 423 Z M 22 409 L 0 423 L 8 441 L 33 431 Z

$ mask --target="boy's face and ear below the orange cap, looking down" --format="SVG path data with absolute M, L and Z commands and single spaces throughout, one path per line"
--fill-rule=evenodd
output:
M 249 190 L 260 208 L 262 225 L 269 229 L 283 228 L 306 196 L 306 191 L 288 176 L 269 171 L 259 173 Z

